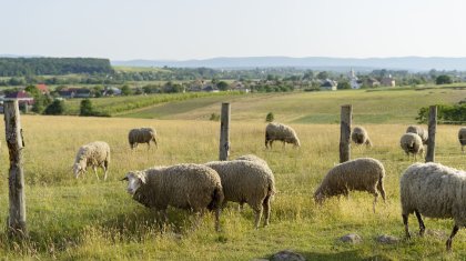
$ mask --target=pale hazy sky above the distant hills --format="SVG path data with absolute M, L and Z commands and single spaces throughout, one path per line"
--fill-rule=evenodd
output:
M 0 0 L 0 54 L 466 57 L 465 0 Z

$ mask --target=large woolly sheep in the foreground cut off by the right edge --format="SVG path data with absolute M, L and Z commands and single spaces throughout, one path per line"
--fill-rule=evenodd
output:
M 407 239 L 411 239 L 408 215 L 415 213 L 419 223 L 419 235 L 426 227 L 422 214 L 435 219 L 453 218 L 455 225 L 446 241 L 452 250 L 453 238 L 466 225 L 466 172 L 439 163 L 414 163 L 399 180 L 402 217 Z

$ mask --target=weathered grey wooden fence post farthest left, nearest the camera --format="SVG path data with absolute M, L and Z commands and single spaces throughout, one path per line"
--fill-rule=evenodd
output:
M 10 170 L 8 178 L 10 212 L 7 220 L 7 230 L 10 237 L 26 238 L 26 198 L 24 177 L 22 170 L 22 129 L 18 100 L 6 100 L 4 107 L 4 130 L 7 145 L 10 154 Z

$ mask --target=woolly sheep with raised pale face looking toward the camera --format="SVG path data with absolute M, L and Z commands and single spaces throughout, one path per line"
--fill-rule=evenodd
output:
M 222 183 L 215 170 L 202 164 L 175 164 L 155 167 L 143 171 L 130 171 L 122 179 L 128 181 L 126 191 L 141 204 L 154 209 L 160 221 L 164 220 L 169 205 L 204 213 L 215 211 L 215 229 L 220 230 L 220 210 L 224 199 Z

